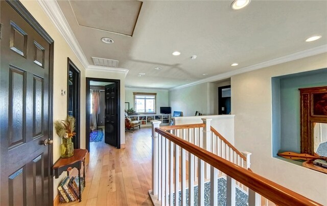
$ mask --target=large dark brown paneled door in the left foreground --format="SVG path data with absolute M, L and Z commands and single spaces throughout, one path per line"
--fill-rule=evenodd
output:
M 19 2 L 11 3 L 18 5 L 19 13 L 8 2 L 0 2 L 0 204 L 52 205 L 52 145 L 43 143 L 52 139 L 53 44 L 44 38 L 44 30 L 40 35 L 39 24 Z

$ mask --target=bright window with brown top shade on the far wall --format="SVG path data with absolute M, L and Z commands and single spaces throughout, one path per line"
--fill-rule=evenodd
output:
M 156 93 L 133 92 L 135 112 L 137 113 L 155 113 Z

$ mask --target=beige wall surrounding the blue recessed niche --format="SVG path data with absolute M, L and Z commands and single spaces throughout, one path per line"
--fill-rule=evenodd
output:
M 326 174 L 272 158 L 271 77 L 326 67 L 327 54 L 321 54 L 231 77 L 235 144 L 252 153 L 251 169 L 323 205 L 327 205 Z

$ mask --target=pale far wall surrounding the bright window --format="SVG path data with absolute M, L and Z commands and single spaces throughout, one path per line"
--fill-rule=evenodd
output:
M 133 92 L 150 92 L 157 93 L 156 95 L 156 113 L 160 114 L 160 107 L 168 107 L 168 90 L 158 90 L 158 89 L 129 89 L 125 88 L 125 102 L 129 102 L 129 108 L 133 108 L 134 106 L 134 94 Z

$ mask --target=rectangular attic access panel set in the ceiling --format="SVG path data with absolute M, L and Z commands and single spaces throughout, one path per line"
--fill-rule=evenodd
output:
M 79 25 L 132 36 L 138 14 L 139 1 L 69 1 Z

